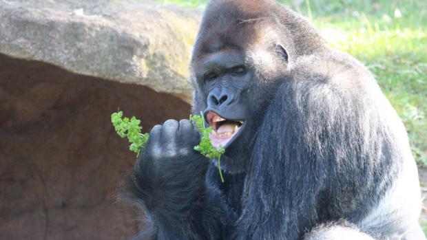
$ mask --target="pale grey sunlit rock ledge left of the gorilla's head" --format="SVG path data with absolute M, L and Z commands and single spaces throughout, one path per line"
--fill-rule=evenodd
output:
M 0 53 L 189 101 L 200 16 L 143 0 L 0 0 Z

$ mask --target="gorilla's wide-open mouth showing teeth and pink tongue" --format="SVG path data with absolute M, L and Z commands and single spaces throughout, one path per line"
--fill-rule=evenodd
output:
M 226 148 L 231 144 L 231 140 L 237 138 L 237 133 L 243 125 L 242 120 L 225 119 L 212 111 L 207 113 L 206 119 L 212 127 L 209 138 L 216 149 L 220 149 L 220 146 Z

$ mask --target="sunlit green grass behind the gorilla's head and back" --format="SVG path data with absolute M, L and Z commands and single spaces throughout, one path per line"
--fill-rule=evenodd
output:
M 206 0 L 158 0 L 203 8 Z M 427 1 L 282 0 L 375 74 L 427 167 Z M 400 16 L 399 16 L 400 15 Z

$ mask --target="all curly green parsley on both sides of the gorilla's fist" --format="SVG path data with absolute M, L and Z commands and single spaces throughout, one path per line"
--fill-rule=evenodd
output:
M 205 127 L 205 118 L 203 118 L 203 114 L 200 113 L 198 115 L 191 115 L 190 120 L 194 121 L 196 124 L 197 130 L 202 135 L 200 140 L 200 144 L 194 146 L 194 150 L 202 153 L 205 157 L 209 159 L 218 160 L 218 171 L 220 171 L 221 182 L 224 182 L 224 177 L 222 177 L 221 172 L 221 155 L 225 152 L 224 148 L 216 149 L 211 143 L 209 138 L 209 134 L 212 131 L 211 127 Z M 123 118 L 123 111 L 118 111 L 116 113 L 112 113 L 111 122 L 116 130 L 117 134 L 121 136 L 121 138 L 127 138 L 131 143 L 129 146 L 129 150 L 137 153 L 139 155 L 140 151 L 144 149 L 145 144 L 147 143 L 149 134 L 141 133 L 143 127 L 140 127 L 140 120 L 135 117 L 132 118 Z

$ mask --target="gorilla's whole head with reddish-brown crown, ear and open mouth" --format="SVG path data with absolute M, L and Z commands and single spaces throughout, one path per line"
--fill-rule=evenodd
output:
M 194 45 L 194 112 L 203 112 L 213 128 L 213 145 L 225 147 L 222 167 L 229 173 L 244 169 L 267 106 L 295 57 L 324 48 L 307 21 L 277 4 L 212 1 Z M 297 34 L 286 24 L 293 19 L 299 21 Z M 295 41 L 303 33 L 313 39 Z

